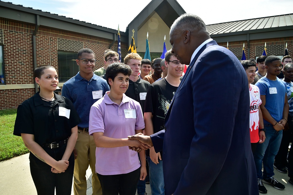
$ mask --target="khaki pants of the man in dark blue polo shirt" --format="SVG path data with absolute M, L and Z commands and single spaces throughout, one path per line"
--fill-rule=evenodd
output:
M 77 156 L 74 164 L 74 194 L 86 195 L 86 170 L 88 169 L 88 165 L 90 165 L 92 170 L 93 194 L 101 195 L 102 187 L 95 170 L 96 145 L 93 136 L 90 136 L 86 131 L 78 130 L 75 149 Z

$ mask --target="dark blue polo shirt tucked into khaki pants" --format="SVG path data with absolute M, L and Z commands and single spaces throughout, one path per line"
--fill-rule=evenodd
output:
M 107 81 L 96 74 L 90 81 L 82 78 L 79 72 L 66 81 L 62 87 L 62 96 L 73 103 L 81 122 L 79 127 L 88 128 L 91 106 L 109 91 Z

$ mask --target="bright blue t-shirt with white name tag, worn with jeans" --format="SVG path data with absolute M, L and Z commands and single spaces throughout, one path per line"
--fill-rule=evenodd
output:
M 285 103 L 285 94 L 287 90 L 286 84 L 277 78 L 272 81 L 266 77 L 262 77 L 255 83 L 260 90 L 260 95 L 265 95 L 265 108 L 268 110 L 273 119 L 279 122 L 283 118 L 283 110 Z M 263 119 L 265 124 L 270 124 Z

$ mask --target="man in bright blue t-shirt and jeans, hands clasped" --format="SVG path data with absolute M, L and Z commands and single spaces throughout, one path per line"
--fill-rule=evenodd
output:
M 285 186 L 273 177 L 275 175 L 273 165 L 289 112 L 286 94 L 287 86 L 277 78 L 277 75 L 282 70 L 281 60 L 276 56 L 268 56 L 265 59 L 265 68 L 267 74 L 255 83 L 260 89 L 260 99 L 262 101 L 260 110 L 263 114 L 266 137 L 265 142 L 258 144 L 254 153 L 258 190 L 263 193 L 267 193 L 263 182 L 273 185 L 276 189 L 285 189 Z

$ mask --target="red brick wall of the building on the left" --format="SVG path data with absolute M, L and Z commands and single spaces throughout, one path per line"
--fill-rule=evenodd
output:
M 0 18 L 0 44 L 4 46 L 5 84 L 33 84 L 33 31 L 34 24 Z M 103 53 L 112 40 L 75 32 L 40 26 L 36 35 L 38 65 L 54 66 L 58 73 L 58 51 L 77 52 L 90 48 L 96 54 L 95 70 L 102 67 Z M 117 41 L 112 46 L 117 52 Z M 127 55 L 127 43 L 121 43 L 122 59 Z M 0 90 L 0 110 L 16 108 L 35 93 L 34 88 Z

